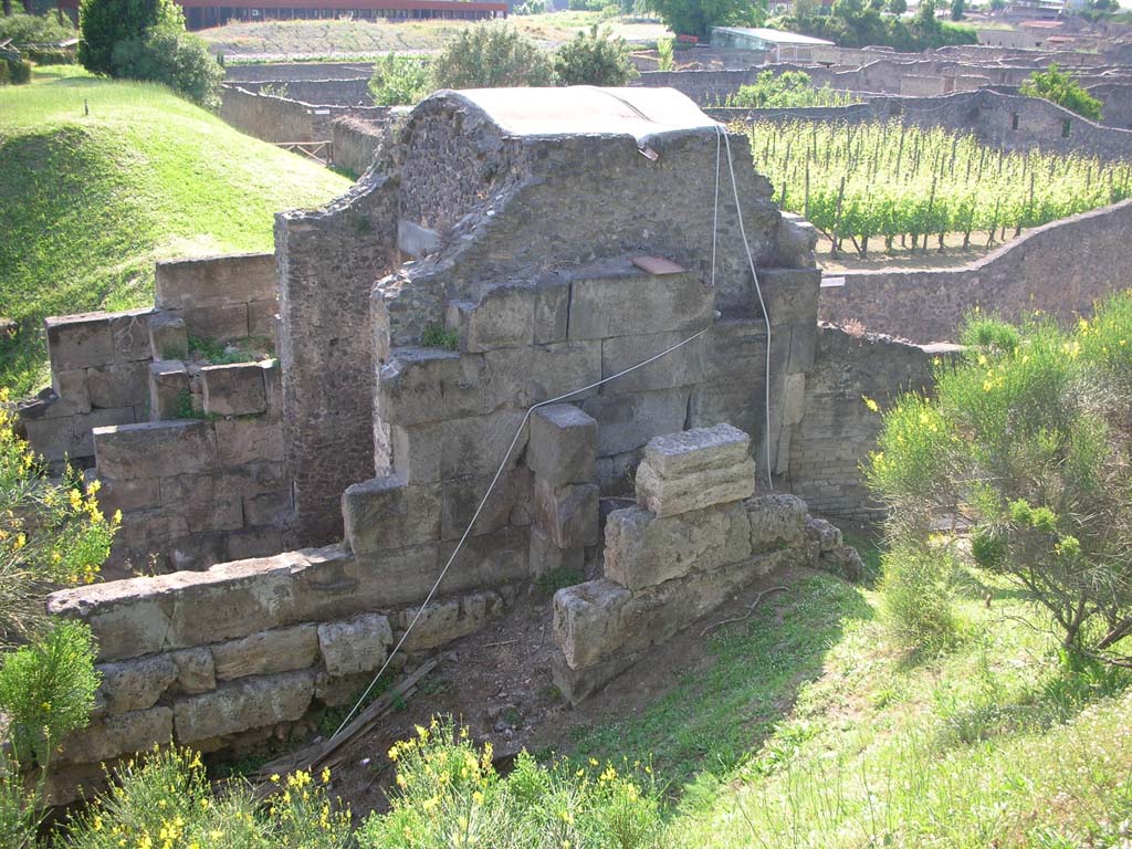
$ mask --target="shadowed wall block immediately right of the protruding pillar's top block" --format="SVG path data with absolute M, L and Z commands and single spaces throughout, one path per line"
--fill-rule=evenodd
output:
M 654 436 L 684 429 L 689 389 L 586 398 L 582 410 L 598 421 L 598 456 L 635 451 Z

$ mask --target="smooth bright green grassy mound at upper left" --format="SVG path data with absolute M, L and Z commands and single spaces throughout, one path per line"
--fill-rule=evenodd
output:
M 147 306 L 155 259 L 271 250 L 275 212 L 348 186 L 160 87 L 0 89 L 0 315 L 25 324 L 0 349 L 0 385 L 43 379 L 44 316 Z

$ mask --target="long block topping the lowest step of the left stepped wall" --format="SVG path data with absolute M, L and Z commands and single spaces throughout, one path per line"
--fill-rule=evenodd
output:
M 106 478 L 194 474 L 215 468 L 216 435 L 204 421 L 95 428 L 94 453 Z

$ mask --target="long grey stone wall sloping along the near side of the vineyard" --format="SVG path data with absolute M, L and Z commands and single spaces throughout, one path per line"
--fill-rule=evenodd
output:
M 1132 200 L 1036 228 L 983 259 L 940 271 L 847 272 L 823 288 L 822 319 L 918 342 L 954 340 L 978 306 L 1017 321 L 1038 309 L 1061 321 L 1132 286 Z M 1104 259 L 1098 259 L 1103 257 Z

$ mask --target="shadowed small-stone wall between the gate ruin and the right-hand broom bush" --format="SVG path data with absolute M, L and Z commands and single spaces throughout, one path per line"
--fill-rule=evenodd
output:
M 827 516 L 880 518 L 860 464 L 876 447 L 881 417 L 865 398 L 886 408 L 906 391 L 929 392 L 933 359 L 954 350 L 820 326 L 805 410 L 790 440 L 789 490 Z

